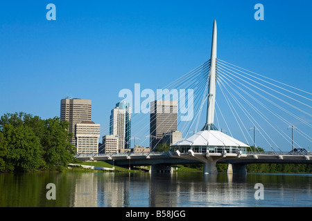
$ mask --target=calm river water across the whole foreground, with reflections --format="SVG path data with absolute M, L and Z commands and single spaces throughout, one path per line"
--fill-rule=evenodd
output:
M 55 200 L 46 198 L 49 183 Z M 263 200 L 254 198 L 257 183 Z M 311 189 L 311 174 L 1 173 L 0 206 L 311 207 Z

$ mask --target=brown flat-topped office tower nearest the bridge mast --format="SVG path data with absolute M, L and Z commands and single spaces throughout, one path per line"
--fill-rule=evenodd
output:
M 162 144 L 166 133 L 177 131 L 177 102 L 150 102 L 150 150 Z

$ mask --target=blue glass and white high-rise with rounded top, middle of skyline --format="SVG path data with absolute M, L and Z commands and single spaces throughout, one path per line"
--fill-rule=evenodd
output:
M 119 150 L 130 148 L 131 108 L 127 102 L 119 102 L 110 115 L 110 135 L 119 137 Z

